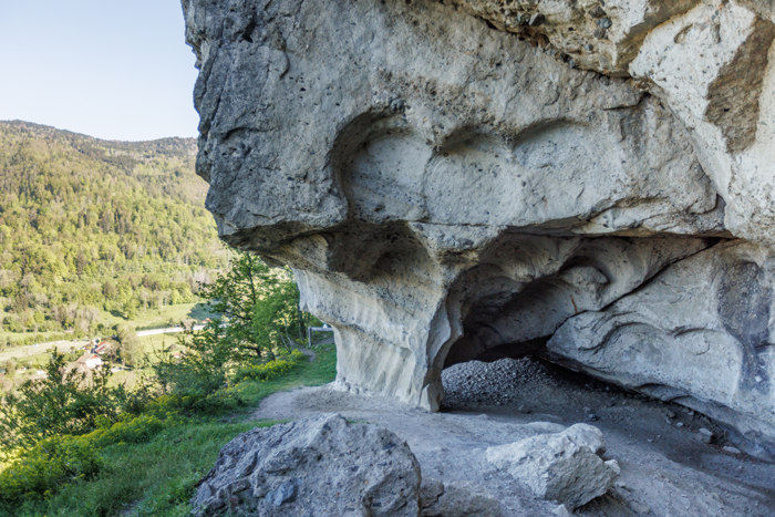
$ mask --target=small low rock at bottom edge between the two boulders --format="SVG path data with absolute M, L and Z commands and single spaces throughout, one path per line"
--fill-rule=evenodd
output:
M 500 517 L 500 504 L 469 482 L 423 480 L 420 490 L 423 517 Z

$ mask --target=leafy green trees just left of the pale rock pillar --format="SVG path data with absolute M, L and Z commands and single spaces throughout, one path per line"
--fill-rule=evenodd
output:
M 163 392 L 180 402 L 179 409 L 207 413 L 216 403 L 240 403 L 235 392 L 224 390 L 234 370 L 234 382 L 287 372 L 301 356 L 289 353 L 291 333 L 303 337 L 312 317 L 299 310 L 299 290 L 289 269 L 272 270 L 247 252 L 237 252 L 229 270 L 202 292 L 211 300 L 207 309 L 225 320 L 214 318 L 200 331 L 185 331 L 178 339 L 182 356 L 163 353 L 152 368 Z

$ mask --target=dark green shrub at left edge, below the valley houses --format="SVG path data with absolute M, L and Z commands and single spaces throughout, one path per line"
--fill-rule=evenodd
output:
M 79 435 L 96 428 L 97 418 L 115 420 L 126 401 L 123 389 L 107 385 L 108 368 L 85 372 L 68 368 L 53 349 L 43 379 L 31 379 L 0 404 L 0 453 L 12 454 L 59 435 Z

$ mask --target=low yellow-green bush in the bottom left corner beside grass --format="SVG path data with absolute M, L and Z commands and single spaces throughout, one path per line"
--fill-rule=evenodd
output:
M 0 506 L 48 497 L 63 483 L 93 477 L 100 467 L 100 456 L 87 440 L 45 438 L 0 472 Z

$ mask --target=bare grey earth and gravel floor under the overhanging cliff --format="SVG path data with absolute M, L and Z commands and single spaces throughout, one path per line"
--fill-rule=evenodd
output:
M 725 452 L 723 432 L 702 415 L 530 358 L 458 364 L 443 380 L 441 413 L 323 386 L 277 393 L 255 417 L 337 412 L 384 425 L 409 443 L 424 478 L 473 482 L 500 500 L 504 517 L 551 516 L 557 507 L 493 468 L 485 449 L 587 422 L 603 432 L 606 459 L 619 462 L 621 478 L 575 515 L 775 516 L 775 465 Z M 716 433 L 715 443 L 702 442 L 702 427 Z

